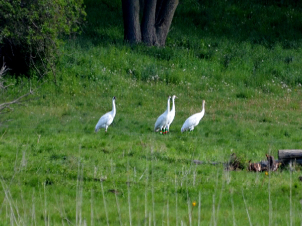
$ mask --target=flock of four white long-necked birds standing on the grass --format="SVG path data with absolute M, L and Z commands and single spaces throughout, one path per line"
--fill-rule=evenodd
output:
M 157 119 L 154 127 L 155 132 L 161 131 L 167 131 L 169 133 L 169 128 L 171 123 L 174 120 L 175 117 L 175 98 L 177 98 L 176 95 L 173 95 L 172 97 L 168 97 L 168 103 L 167 103 L 167 110 Z M 172 99 L 172 109 L 170 110 L 170 99 Z M 205 101 L 202 100 L 202 110 L 201 112 L 198 112 L 192 116 L 190 116 L 185 123 L 183 124 L 181 128 L 181 132 L 185 132 L 187 130 L 193 131 L 194 127 L 196 127 L 202 117 L 204 116 L 204 103 Z M 99 122 L 96 125 L 95 132 L 98 132 L 101 128 L 105 128 L 105 132 L 107 132 L 108 127 L 112 124 L 113 119 L 116 114 L 116 108 L 115 108 L 115 96 L 112 98 L 112 110 L 107 112 L 104 116 L 102 116 L 99 119 Z

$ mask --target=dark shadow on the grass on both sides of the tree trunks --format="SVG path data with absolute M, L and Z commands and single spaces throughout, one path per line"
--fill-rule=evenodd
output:
M 95 45 L 122 44 L 121 2 L 86 0 L 85 5 L 88 23 L 83 36 Z M 167 45 L 196 48 L 200 39 L 224 37 L 269 48 L 276 43 L 297 48 L 302 39 L 301 16 L 302 3 L 294 0 L 184 1 L 176 10 Z

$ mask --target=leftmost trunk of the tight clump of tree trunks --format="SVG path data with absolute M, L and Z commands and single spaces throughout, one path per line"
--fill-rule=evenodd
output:
M 124 40 L 130 43 L 141 42 L 139 27 L 139 0 L 122 0 Z

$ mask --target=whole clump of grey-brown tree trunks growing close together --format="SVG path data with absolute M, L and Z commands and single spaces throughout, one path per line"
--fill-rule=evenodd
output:
M 124 40 L 164 46 L 179 0 L 122 0 Z M 143 6 L 139 27 L 139 8 Z

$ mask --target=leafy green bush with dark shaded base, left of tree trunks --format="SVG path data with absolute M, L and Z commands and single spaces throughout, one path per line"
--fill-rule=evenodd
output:
M 0 57 L 13 73 L 55 78 L 58 46 L 85 16 L 83 0 L 0 0 Z

